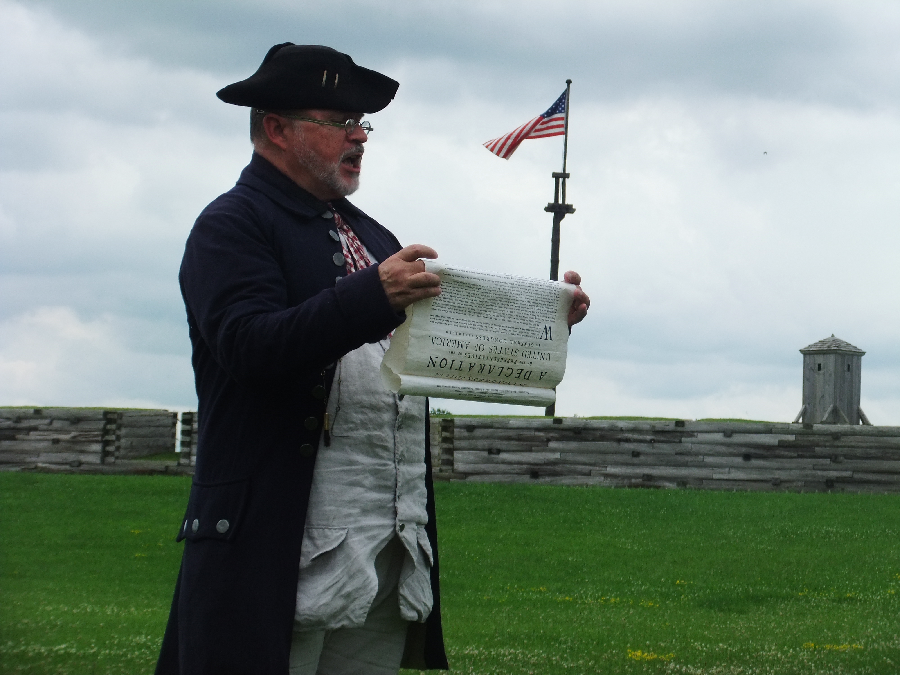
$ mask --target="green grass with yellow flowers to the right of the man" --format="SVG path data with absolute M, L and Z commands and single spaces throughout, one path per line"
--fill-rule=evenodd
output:
M 900 672 L 900 498 L 446 486 L 463 673 Z

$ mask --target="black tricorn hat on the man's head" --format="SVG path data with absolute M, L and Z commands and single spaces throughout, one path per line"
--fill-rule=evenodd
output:
M 261 110 L 303 108 L 373 113 L 386 108 L 400 84 L 319 45 L 275 45 L 257 71 L 216 96 Z

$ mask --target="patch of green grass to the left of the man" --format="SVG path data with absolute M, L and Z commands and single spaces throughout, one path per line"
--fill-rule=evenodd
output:
M 189 486 L 0 474 L 0 673 L 153 672 Z

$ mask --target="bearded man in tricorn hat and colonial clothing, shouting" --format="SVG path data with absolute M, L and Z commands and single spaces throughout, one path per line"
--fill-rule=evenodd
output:
M 179 275 L 200 431 L 160 675 L 447 668 L 427 401 L 378 374 L 404 308 L 440 293 L 437 253 L 345 199 L 363 113 L 398 86 L 284 43 L 218 92 L 251 109 L 254 154 Z

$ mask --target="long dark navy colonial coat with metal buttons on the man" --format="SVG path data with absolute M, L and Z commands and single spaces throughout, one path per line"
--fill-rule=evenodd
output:
M 400 249 L 348 201 L 333 206 L 377 260 Z M 334 362 L 404 319 L 377 266 L 346 276 L 328 215 L 254 155 L 188 238 L 179 280 L 200 430 L 160 675 L 288 672 L 300 543 Z M 427 429 L 422 442 L 427 448 Z M 430 452 L 425 457 L 435 603 L 424 625 L 411 624 L 404 661 L 446 668 Z

